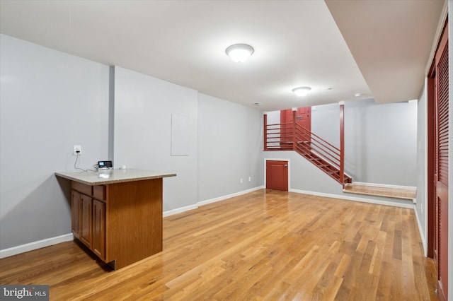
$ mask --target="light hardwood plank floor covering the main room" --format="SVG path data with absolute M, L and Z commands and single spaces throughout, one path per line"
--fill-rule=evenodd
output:
M 265 189 L 164 218 L 164 252 L 120 270 L 64 242 L 1 259 L 0 283 L 50 300 L 437 300 L 412 210 Z

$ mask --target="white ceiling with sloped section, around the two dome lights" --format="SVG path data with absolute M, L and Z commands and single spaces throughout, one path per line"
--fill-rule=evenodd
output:
M 0 32 L 272 111 L 418 98 L 444 5 L 0 0 Z M 248 61 L 237 64 L 226 56 L 226 47 L 236 43 L 254 47 Z M 292 93 L 305 85 L 312 88 L 306 97 Z

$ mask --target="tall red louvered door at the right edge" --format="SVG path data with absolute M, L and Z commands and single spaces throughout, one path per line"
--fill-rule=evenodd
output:
M 448 25 L 435 55 L 435 244 L 439 299 L 448 296 L 448 157 L 449 157 Z

